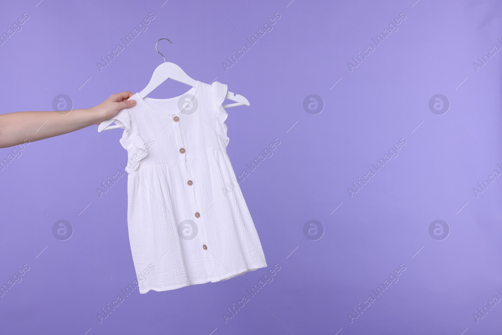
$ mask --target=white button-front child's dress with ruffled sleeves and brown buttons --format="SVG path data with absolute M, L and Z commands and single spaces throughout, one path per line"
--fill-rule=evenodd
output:
M 141 98 L 125 126 L 128 228 L 140 293 L 217 282 L 267 266 L 226 154 L 225 84 L 197 81 L 169 99 Z

